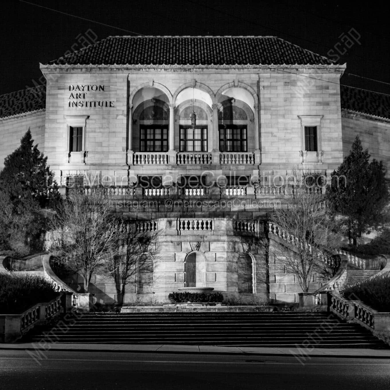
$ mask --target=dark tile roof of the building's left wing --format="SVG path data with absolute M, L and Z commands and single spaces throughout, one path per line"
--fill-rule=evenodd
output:
M 0 95 L 0 118 L 46 107 L 46 85 Z

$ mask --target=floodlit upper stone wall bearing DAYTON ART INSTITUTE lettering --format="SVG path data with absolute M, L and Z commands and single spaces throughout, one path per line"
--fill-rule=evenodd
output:
M 43 69 L 45 74 L 51 72 Z M 293 71 L 295 72 L 295 71 Z M 183 172 L 195 174 L 204 169 L 229 172 L 232 166 L 172 166 L 165 165 L 126 165 L 126 147 L 128 144 L 128 99 L 141 86 L 160 89 L 158 99 L 172 99 L 175 91 L 187 85 L 191 87 L 196 79 L 196 88 L 213 97 L 218 90 L 239 89 L 243 101 L 248 100 L 252 110 L 253 96 L 259 97 L 259 132 L 262 151 L 262 168 L 272 174 L 278 170 L 291 169 L 291 165 L 301 163 L 302 127 L 300 115 L 321 116 L 321 143 L 323 155 L 304 164 L 308 169 L 333 170 L 342 161 L 341 113 L 340 113 L 340 74 L 333 71 L 318 73 L 315 69 L 301 69 L 305 77 L 299 73 L 285 73 L 266 69 L 198 69 L 194 75 L 191 70 L 175 69 L 142 69 L 124 71 L 122 69 L 104 68 L 92 71 L 78 69 L 57 69 L 55 83 L 47 86 L 46 101 L 46 137 L 45 153 L 50 166 L 60 175 L 84 169 L 102 170 L 103 174 L 124 175 L 156 173 L 156 169 L 167 173 Z M 311 77 L 316 77 L 316 80 Z M 317 80 L 318 78 L 323 79 Z M 334 84 L 336 83 L 336 84 Z M 103 85 L 103 90 L 86 92 L 85 100 L 110 101 L 112 107 L 69 107 L 69 85 Z M 244 93 L 244 92 L 245 93 Z M 252 91 L 252 92 L 251 92 Z M 253 93 L 252 97 L 250 94 Z M 146 96 L 145 99 L 149 99 Z M 222 95 L 221 95 L 222 96 Z M 241 96 L 241 95 L 240 95 Z M 248 97 L 249 96 L 249 97 Z M 210 97 L 210 101 L 211 101 Z M 214 98 L 214 97 L 213 97 Z M 250 100 L 252 99 L 252 103 Z M 257 99 L 257 97 L 256 97 Z M 206 99 L 207 100 L 207 99 Z M 134 102 L 136 105 L 139 103 Z M 136 110 L 137 107 L 133 107 Z M 86 126 L 87 163 L 67 163 L 69 116 L 89 116 Z M 175 133 L 177 133 L 177 123 Z M 211 124 L 209 123 L 209 128 Z M 135 124 L 135 129 L 137 124 Z M 248 127 L 252 128 L 252 124 Z M 210 130 L 210 129 L 209 129 Z M 251 130 L 252 131 L 252 130 Z M 212 133 L 209 131 L 209 137 Z M 251 135 L 253 137 L 253 135 Z M 252 138 L 250 138 L 252 139 Z M 211 141 L 211 140 L 209 140 Z M 215 145 L 218 147 L 218 145 Z M 253 149 L 253 145 L 250 147 Z M 257 167 L 234 167 L 253 172 Z M 245 172 L 246 173 L 246 172 Z M 59 180 L 58 180 L 59 181 Z M 125 183 L 127 184 L 127 183 Z

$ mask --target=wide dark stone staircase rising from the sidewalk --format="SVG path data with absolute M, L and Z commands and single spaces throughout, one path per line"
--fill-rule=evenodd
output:
M 68 318 L 69 317 L 69 318 Z M 26 340 L 27 341 L 27 340 Z M 380 348 L 365 328 L 333 315 L 299 312 L 88 313 L 67 315 L 32 342 Z

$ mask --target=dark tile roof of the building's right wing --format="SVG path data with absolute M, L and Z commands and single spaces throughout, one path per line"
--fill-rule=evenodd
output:
M 341 108 L 390 119 L 390 96 L 379 92 L 340 86 Z

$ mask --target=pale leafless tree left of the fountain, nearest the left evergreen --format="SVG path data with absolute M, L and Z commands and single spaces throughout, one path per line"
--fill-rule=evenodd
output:
M 122 221 L 115 216 L 112 199 L 99 178 L 87 177 L 92 186 L 69 189 L 67 200 L 52 220 L 57 237 L 51 250 L 67 268 L 80 272 L 84 291 L 92 274 L 111 261 L 118 250 Z

